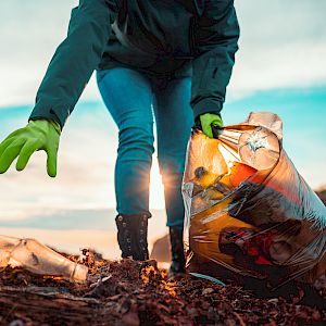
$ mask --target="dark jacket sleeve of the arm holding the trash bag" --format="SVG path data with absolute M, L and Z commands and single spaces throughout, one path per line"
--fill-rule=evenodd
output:
M 195 118 L 203 113 L 220 113 L 225 100 L 239 25 L 233 0 L 206 1 L 198 17 L 193 36 L 191 106 Z

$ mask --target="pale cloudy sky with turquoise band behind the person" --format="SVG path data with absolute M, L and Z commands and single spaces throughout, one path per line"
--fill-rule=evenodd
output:
M 26 124 L 76 4 L 0 1 L 0 140 Z M 244 121 L 251 111 L 279 114 L 286 151 L 305 180 L 314 189 L 322 187 L 326 185 L 326 2 L 236 0 L 235 4 L 241 36 L 224 123 Z M 117 254 L 112 244 L 116 145 L 117 129 L 92 77 L 63 130 L 58 177 L 46 175 L 43 152 L 35 154 L 24 172 L 11 168 L 0 176 L 3 234 L 34 236 L 71 250 L 92 244 L 108 255 Z M 155 155 L 151 180 L 155 216 L 150 241 L 166 233 Z

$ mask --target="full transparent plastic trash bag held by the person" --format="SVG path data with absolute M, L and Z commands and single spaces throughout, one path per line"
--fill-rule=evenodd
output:
M 281 139 L 281 120 L 267 112 L 218 139 L 192 131 L 183 183 L 189 272 L 326 288 L 326 208 Z

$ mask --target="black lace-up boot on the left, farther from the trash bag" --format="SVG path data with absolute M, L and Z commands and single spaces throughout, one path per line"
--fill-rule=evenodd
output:
M 147 243 L 147 226 L 149 214 L 120 214 L 115 217 L 117 226 L 117 242 L 122 258 L 135 261 L 149 259 Z

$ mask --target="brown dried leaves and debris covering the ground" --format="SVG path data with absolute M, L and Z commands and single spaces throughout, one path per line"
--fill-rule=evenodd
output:
M 88 281 L 79 285 L 21 268 L 1 271 L 0 324 L 91 321 L 93 325 L 243 326 L 326 322 L 323 311 L 290 304 L 283 298 L 259 299 L 239 287 L 223 288 L 192 277 L 168 280 L 166 271 L 159 269 L 154 261 L 112 262 L 92 253 L 84 254 L 79 262 L 91 271 Z

